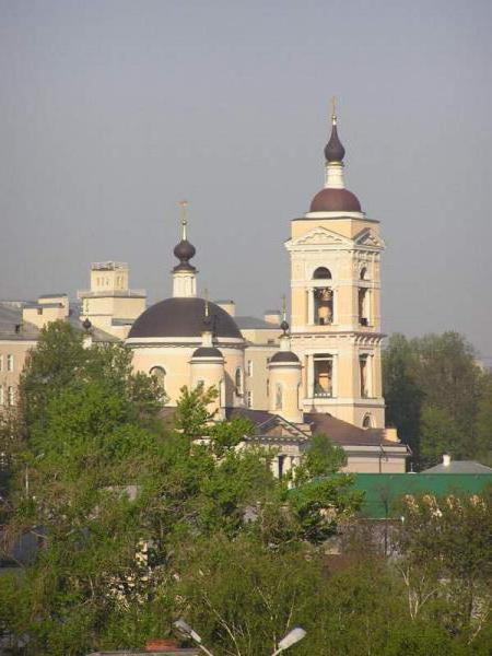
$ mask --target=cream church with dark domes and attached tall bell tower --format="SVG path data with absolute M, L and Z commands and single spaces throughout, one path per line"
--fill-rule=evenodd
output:
M 197 296 L 195 246 L 174 249 L 173 297 L 132 324 L 136 370 L 155 375 L 176 405 L 180 388 L 214 386 L 218 419 L 248 415 L 245 441 L 278 449 L 277 473 L 295 466 L 315 433 L 341 444 L 351 471 L 405 471 L 408 448 L 385 427 L 380 348 L 379 222 L 345 188 L 344 148 L 331 117 L 325 186 L 291 221 L 291 323 L 235 316 L 232 301 Z M 285 313 L 284 313 L 285 315 Z M 91 317 L 89 317 L 91 318 Z

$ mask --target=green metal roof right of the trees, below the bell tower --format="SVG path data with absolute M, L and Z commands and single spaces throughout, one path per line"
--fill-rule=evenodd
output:
M 492 473 L 356 473 L 354 489 L 365 492 L 360 516 L 395 517 L 406 494 L 479 494 L 492 487 Z

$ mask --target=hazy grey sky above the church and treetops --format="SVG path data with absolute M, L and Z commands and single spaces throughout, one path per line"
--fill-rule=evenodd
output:
M 490 0 L 0 0 L 0 297 L 107 259 L 168 296 L 185 197 L 200 291 L 278 306 L 335 94 L 385 331 L 492 356 L 491 31 Z

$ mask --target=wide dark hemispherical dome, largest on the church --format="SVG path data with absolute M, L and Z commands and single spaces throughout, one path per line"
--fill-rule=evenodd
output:
M 242 339 L 239 329 L 230 314 L 209 302 L 211 326 L 220 339 Z M 131 327 L 128 338 L 143 337 L 201 337 L 206 329 L 206 302 L 203 298 L 166 298 L 145 309 Z

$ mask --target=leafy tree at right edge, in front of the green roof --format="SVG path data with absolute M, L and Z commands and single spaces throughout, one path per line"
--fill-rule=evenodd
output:
M 418 496 L 401 512 L 394 537 L 411 618 L 429 609 L 450 634 L 473 643 L 492 612 L 492 489 Z

